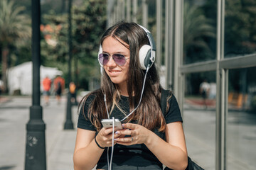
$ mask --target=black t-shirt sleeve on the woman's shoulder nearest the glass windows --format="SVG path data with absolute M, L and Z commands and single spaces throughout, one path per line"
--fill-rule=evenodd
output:
M 165 113 L 164 118 L 166 120 L 166 124 L 183 121 L 181 111 L 178 107 L 178 102 L 174 94 L 172 94 L 171 98 L 169 99 L 169 111 Z

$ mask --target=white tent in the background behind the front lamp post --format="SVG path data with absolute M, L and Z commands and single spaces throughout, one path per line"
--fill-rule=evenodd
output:
M 63 72 L 55 67 L 40 67 L 40 81 L 48 76 L 49 79 L 54 79 L 57 75 L 62 75 Z M 24 62 L 16 67 L 11 67 L 7 72 L 7 82 L 9 94 L 14 94 L 15 90 L 20 90 L 23 95 L 32 94 L 32 62 Z M 41 86 L 42 91 L 42 86 Z

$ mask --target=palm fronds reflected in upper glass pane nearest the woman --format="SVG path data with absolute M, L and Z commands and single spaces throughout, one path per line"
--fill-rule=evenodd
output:
M 208 39 L 215 38 L 213 20 L 206 18 L 201 8 L 184 3 L 183 57 L 186 63 L 213 60 L 213 50 Z

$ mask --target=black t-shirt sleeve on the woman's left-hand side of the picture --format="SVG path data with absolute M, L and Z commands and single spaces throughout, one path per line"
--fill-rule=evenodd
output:
M 89 96 L 85 101 L 85 105 L 81 107 L 79 117 L 78 117 L 78 128 L 96 131 L 95 126 L 92 125 L 87 115 L 88 108 L 91 102 L 92 102 L 92 96 Z

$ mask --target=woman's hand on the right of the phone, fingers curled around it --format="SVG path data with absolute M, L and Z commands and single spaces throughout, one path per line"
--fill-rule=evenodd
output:
M 144 128 L 142 125 L 137 125 L 133 123 L 125 123 L 122 125 L 124 129 L 117 130 L 115 134 L 119 137 L 115 137 L 114 141 L 120 145 L 135 145 L 143 144 L 147 142 L 151 131 Z M 125 137 L 128 135 L 129 137 Z

